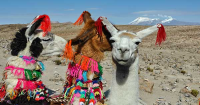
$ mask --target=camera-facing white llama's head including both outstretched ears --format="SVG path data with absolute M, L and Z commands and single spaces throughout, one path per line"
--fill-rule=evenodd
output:
M 113 60 L 120 65 L 126 66 L 131 65 L 138 56 L 138 45 L 142 41 L 142 38 L 156 31 L 157 27 L 162 26 L 161 24 L 158 24 L 137 33 L 133 33 L 126 30 L 119 31 L 107 20 L 107 18 L 101 17 L 101 19 L 102 23 L 106 25 L 107 30 L 112 35 L 110 41 L 112 42 Z M 165 40 L 165 38 L 163 40 Z

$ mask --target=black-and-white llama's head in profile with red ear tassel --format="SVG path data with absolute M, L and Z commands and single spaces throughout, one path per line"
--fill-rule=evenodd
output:
M 51 30 L 48 15 L 39 15 L 27 27 L 20 29 L 11 42 L 13 56 L 33 56 L 60 54 L 66 41 L 49 33 Z

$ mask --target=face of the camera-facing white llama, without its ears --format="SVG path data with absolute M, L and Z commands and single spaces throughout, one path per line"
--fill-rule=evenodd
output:
M 141 39 L 135 33 L 119 31 L 110 40 L 113 60 L 120 65 L 130 65 L 137 57 Z

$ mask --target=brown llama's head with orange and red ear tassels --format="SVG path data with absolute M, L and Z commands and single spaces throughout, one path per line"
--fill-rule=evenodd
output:
M 91 14 L 84 11 L 74 25 L 80 25 L 84 22 L 84 27 L 81 29 L 78 36 L 72 39 L 72 45 L 78 45 L 76 49 L 76 58 L 78 62 L 81 56 L 78 54 L 88 56 L 96 61 L 103 59 L 104 51 L 111 51 L 111 44 L 109 38 L 110 33 L 101 26 L 101 21 L 94 21 Z M 98 23 L 99 22 L 99 23 Z M 101 28 L 101 31 L 98 31 Z

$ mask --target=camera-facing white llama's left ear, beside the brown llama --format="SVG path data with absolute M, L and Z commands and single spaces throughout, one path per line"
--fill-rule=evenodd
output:
M 112 36 L 117 34 L 118 30 L 108 21 L 106 17 L 100 17 L 100 19 Z

